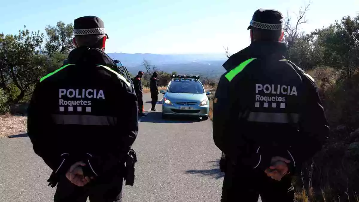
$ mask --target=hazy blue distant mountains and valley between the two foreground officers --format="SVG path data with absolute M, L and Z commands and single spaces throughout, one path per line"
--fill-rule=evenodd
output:
M 145 60 L 156 65 L 157 69 L 168 73 L 196 74 L 205 77 L 218 78 L 225 70 L 222 67 L 227 58 L 224 54 L 150 54 L 150 53 L 107 53 L 113 59 L 120 60 L 130 73 L 144 71 L 142 63 Z

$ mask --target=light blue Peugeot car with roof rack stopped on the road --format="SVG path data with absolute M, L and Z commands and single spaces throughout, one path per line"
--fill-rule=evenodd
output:
M 162 118 L 168 116 L 197 116 L 208 119 L 209 100 L 199 76 L 171 75 L 162 99 Z

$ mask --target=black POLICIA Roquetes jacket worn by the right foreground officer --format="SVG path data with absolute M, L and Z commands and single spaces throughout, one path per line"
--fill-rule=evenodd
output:
M 328 123 L 313 78 L 285 60 L 284 43 L 252 42 L 230 56 L 213 101 L 213 138 L 233 163 L 265 170 L 271 157 L 303 161 L 322 147 Z

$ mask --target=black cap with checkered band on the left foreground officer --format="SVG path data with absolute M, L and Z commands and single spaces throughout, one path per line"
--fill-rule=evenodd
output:
M 103 21 L 96 16 L 84 16 L 74 20 L 74 35 L 108 35 Z

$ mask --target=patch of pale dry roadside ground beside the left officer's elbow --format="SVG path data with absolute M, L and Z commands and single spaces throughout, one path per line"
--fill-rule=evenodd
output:
M 0 115 L 0 138 L 27 131 L 27 116 Z

